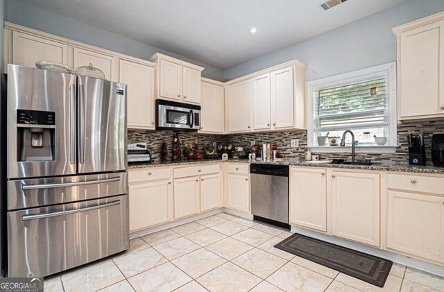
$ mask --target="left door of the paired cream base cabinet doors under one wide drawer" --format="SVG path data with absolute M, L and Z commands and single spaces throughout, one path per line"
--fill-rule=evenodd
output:
M 199 213 L 199 177 L 174 180 L 174 218 Z

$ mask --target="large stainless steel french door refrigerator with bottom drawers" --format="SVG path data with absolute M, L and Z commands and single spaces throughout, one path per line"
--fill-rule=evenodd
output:
M 128 249 L 126 85 L 8 65 L 7 119 L 8 277 Z

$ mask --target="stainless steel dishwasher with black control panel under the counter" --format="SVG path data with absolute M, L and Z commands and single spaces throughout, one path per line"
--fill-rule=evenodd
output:
M 250 164 L 251 212 L 255 218 L 289 223 L 289 166 Z M 282 225 L 282 224 L 280 224 Z

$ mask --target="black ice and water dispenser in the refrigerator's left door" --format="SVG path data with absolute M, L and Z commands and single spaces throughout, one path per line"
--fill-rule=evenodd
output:
M 17 160 L 56 160 L 55 134 L 55 112 L 17 110 Z

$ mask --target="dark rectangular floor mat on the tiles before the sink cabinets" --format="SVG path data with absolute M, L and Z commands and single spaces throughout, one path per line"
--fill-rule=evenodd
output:
M 393 264 L 392 261 L 387 259 L 350 250 L 350 248 L 337 246 L 298 233 L 276 244 L 275 248 L 285 250 L 293 255 L 309 259 L 379 287 L 384 286 Z

